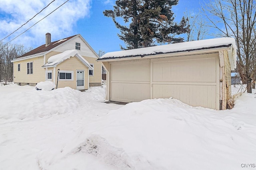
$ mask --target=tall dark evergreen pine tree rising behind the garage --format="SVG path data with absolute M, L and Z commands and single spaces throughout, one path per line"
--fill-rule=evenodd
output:
M 183 41 L 175 37 L 187 32 L 184 17 L 179 24 L 174 22 L 171 8 L 177 4 L 178 0 L 117 0 L 114 10 L 105 10 L 103 14 L 111 17 L 120 29 L 118 37 L 126 43 L 126 48 L 121 49 L 137 49 L 153 46 L 156 42 Z M 118 17 L 130 24 L 121 25 L 116 21 Z

